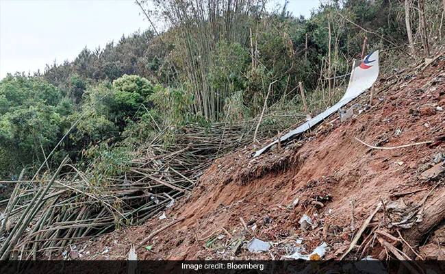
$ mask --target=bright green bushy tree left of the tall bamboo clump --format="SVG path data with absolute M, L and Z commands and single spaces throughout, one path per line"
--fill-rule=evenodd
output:
M 139 121 L 144 114 L 141 110 L 150 104 L 153 90 L 147 79 L 137 75 L 124 75 L 113 84 L 105 82 L 88 88 L 81 112 L 71 117 L 76 121 L 81 113 L 87 112 L 77 132 L 71 134 L 71 140 L 79 148 L 105 139 L 121 140 L 120 134 L 126 131 L 127 125 L 133 125 L 132 121 Z

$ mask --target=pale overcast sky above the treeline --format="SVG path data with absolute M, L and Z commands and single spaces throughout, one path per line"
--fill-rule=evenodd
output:
M 288 10 L 308 17 L 319 3 L 290 0 Z M 123 34 L 143 31 L 149 25 L 139 12 L 133 0 L 0 0 L 0 79 L 43 71 L 54 60 L 74 60 L 85 46 L 103 48 Z

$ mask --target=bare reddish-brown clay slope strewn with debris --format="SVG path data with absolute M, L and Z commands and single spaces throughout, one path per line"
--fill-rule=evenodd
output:
M 340 258 L 380 201 L 401 197 L 409 206 L 436 186 L 437 180 L 422 179 L 420 174 L 433 166 L 438 153 L 444 153 L 443 143 L 381 150 L 355 138 L 378 147 L 396 147 L 444 134 L 444 66 L 445 60 L 439 59 L 423 71 L 411 69 L 381 80 L 372 106 L 369 93 L 362 95 L 345 108 L 353 107 L 354 115 L 344 123 L 335 114 L 301 140 L 258 158 L 251 156 L 253 149 L 244 149 L 216 160 L 192 195 L 166 210 L 166 219 L 160 220 L 159 214 L 140 227 L 83 242 L 78 245 L 83 249 L 81 259 L 125 260 L 135 244 L 138 260 L 278 260 L 297 248 L 311 253 L 322 242 L 329 246 L 322 259 Z M 420 191 L 404 194 L 413 190 Z M 428 199 L 444 190 L 440 184 Z M 303 214 L 312 219 L 313 227 L 301 227 L 298 221 Z M 181 218 L 138 246 L 157 229 Z M 383 207 L 370 227 L 387 227 L 387 219 Z M 368 234 L 370 229 L 359 245 Z M 439 234 L 444 242 L 444 232 Z M 251 253 L 246 245 L 233 250 L 236 239 L 254 237 L 271 242 L 269 252 Z M 382 250 L 375 240 L 346 258 L 385 259 Z

